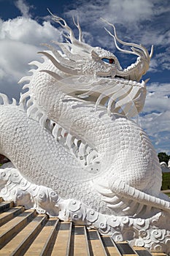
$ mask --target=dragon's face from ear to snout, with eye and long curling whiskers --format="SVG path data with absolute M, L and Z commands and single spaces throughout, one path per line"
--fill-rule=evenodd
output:
M 108 23 L 106 20 L 104 21 Z M 137 45 L 131 42 L 123 42 L 117 37 L 115 26 L 111 23 L 108 24 L 114 29 L 114 34 L 111 34 L 110 31 L 108 31 L 106 28 L 105 29 L 114 38 L 116 48 L 123 53 L 130 53 L 136 55 L 137 59 L 134 64 L 131 64 L 131 66 L 122 69 L 122 67 L 120 67 L 120 63 L 117 57 L 114 54 L 101 48 L 95 48 L 91 53 L 92 59 L 94 59 L 95 61 L 99 61 L 101 63 L 101 66 L 103 67 L 103 72 L 96 72 L 96 75 L 139 81 L 142 78 L 142 75 L 144 75 L 150 67 L 150 59 L 152 58 L 153 45 L 149 54 L 147 49 L 144 48 L 144 46 L 142 45 Z M 117 45 L 117 42 L 120 42 L 120 44 L 122 45 L 130 46 L 131 50 L 121 49 Z M 102 61 L 106 62 L 107 64 L 103 64 Z

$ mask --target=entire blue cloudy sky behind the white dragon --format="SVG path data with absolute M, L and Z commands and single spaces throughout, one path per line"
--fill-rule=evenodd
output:
M 139 119 L 156 151 L 170 154 L 170 1 L 0 0 L 0 92 L 10 99 L 19 98 L 18 80 L 28 75 L 28 62 L 41 60 L 36 53 L 45 48 L 40 44 L 63 40 L 47 8 L 70 26 L 72 15 L 79 15 L 85 42 L 115 53 L 123 67 L 135 57 L 117 52 L 100 18 L 115 24 L 120 39 L 141 43 L 149 51 L 154 45 L 150 70 L 143 78 L 150 80 Z

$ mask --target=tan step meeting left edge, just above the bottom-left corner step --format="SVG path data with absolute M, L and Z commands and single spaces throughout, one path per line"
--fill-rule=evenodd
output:
M 0 229 L 0 249 L 7 244 L 36 214 L 34 210 L 26 210 L 18 217 L 13 218 Z

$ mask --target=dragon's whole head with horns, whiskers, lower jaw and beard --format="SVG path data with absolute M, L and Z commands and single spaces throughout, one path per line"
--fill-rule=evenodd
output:
M 85 96 L 83 94 L 86 93 L 86 96 L 88 95 L 88 99 L 85 98 L 86 101 L 107 106 L 109 113 L 119 111 L 125 116 L 136 116 L 142 110 L 146 97 L 145 83 L 144 81 L 139 83 L 139 80 L 149 69 L 153 47 L 149 54 L 142 45 L 123 42 L 117 37 L 115 26 L 105 20 L 114 29 L 114 34 L 106 30 L 114 38 L 116 48 L 123 53 L 137 56 L 134 64 L 123 69 L 113 53 L 83 42 L 78 19 L 76 23 L 73 18 L 74 25 L 79 30 L 79 39 L 74 37 L 74 32 L 63 18 L 53 15 L 53 20 L 67 31 L 67 34 L 63 34 L 66 42 L 53 41 L 61 50 L 55 50 L 53 46 L 46 45 L 50 48 L 50 52 L 40 53 L 53 62 L 55 72 L 47 69 L 40 71 L 53 76 L 58 84 L 61 83 L 66 93 L 68 93 L 68 84 L 72 85 L 74 97 Z M 120 48 L 117 42 L 130 47 L 131 50 Z

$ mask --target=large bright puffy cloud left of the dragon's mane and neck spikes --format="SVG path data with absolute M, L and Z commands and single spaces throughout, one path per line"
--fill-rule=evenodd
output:
M 18 80 L 28 75 L 28 63 L 41 60 L 36 53 L 41 43 L 61 40 L 61 34 L 49 21 L 39 24 L 31 18 L 0 20 L 0 90 L 9 97 L 19 97 Z

